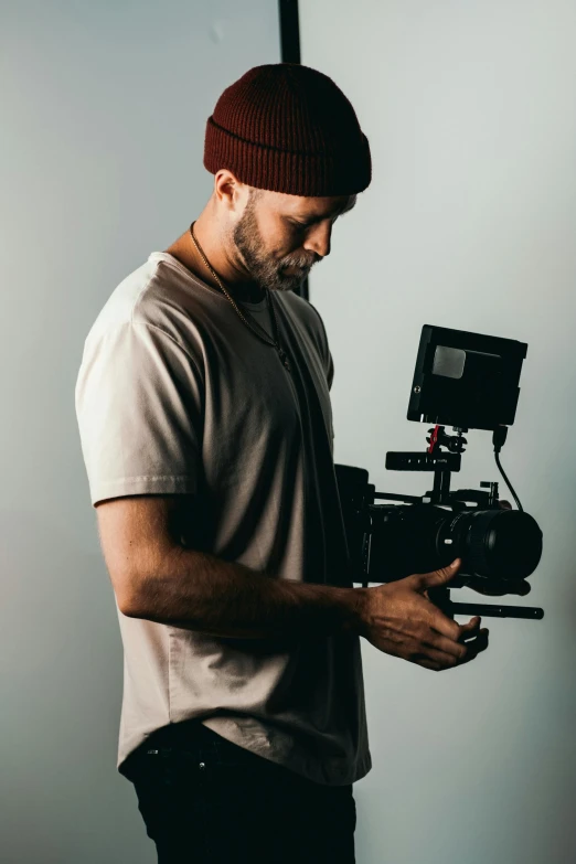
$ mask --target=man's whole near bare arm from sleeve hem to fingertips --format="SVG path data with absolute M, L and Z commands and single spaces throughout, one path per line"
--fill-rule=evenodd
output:
M 378 651 L 439 671 L 488 646 L 480 618 L 457 625 L 427 597 L 457 568 L 373 588 L 271 578 L 188 548 L 191 495 L 109 499 L 97 508 L 120 611 L 216 637 L 278 642 L 355 632 Z M 458 567 L 461 561 L 457 561 Z M 463 643 L 466 641 L 466 644 Z

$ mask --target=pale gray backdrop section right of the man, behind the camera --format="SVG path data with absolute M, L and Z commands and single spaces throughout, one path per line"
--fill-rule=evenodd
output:
M 372 772 L 354 787 L 360 864 L 576 860 L 574 513 L 576 3 L 303 0 L 302 60 L 331 75 L 371 141 L 374 180 L 338 222 L 311 300 L 335 362 L 335 459 L 386 491 L 424 449 L 406 420 L 424 323 L 529 343 L 501 459 L 544 532 L 490 647 L 436 674 L 363 641 Z M 501 480 L 471 431 L 452 488 Z M 501 483 L 502 497 L 505 487 Z M 459 596 L 458 596 L 459 595 Z M 482 601 L 470 590 L 454 599 Z M 458 620 L 467 620 L 459 618 Z

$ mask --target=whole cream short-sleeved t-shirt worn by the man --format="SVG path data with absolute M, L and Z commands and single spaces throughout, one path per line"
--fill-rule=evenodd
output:
M 291 371 L 169 253 L 153 252 L 116 287 L 86 337 L 75 390 L 90 502 L 193 493 L 198 548 L 278 579 L 352 587 L 326 330 L 292 291 L 273 301 Z M 271 333 L 266 301 L 242 307 Z M 191 718 L 319 783 L 371 769 L 358 636 L 295 634 L 287 647 L 116 607 L 120 772 L 154 729 Z

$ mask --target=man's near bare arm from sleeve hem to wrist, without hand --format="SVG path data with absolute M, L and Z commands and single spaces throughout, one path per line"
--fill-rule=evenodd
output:
M 364 589 L 277 579 L 190 548 L 192 495 L 125 497 L 96 510 L 118 607 L 128 617 L 244 639 L 360 627 Z

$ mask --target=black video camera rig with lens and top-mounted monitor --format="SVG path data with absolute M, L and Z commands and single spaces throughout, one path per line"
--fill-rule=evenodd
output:
M 524 512 L 499 459 L 508 425 L 515 418 L 526 351 L 527 345 L 515 340 L 423 327 L 407 418 L 435 426 L 428 430 L 427 450 L 388 451 L 385 467 L 431 471 L 434 486 L 419 497 L 381 492 L 369 483 L 365 469 L 335 465 L 353 582 L 364 587 L 370 582 L 393 582 L 445 567 L 460 557 L 450 588 L 428 590 L 430 600 L 446 615 L 543 618 L 538 607 L 450 599 L 451 588 L 482 583 L 497 586 L 495 594 L 506 594 L 506 588 L 512 593 L 513 585 L 530 576 L 542 556 L 542 532 Z M 455 435 L 446 433 L 447 425 Z M 467 444 L 463 434 L 470 428 L 492 430 L 497 466 L 518 510 L 501 508 L 498 482 L 450 490 L 451 473 L 460 470 Z

